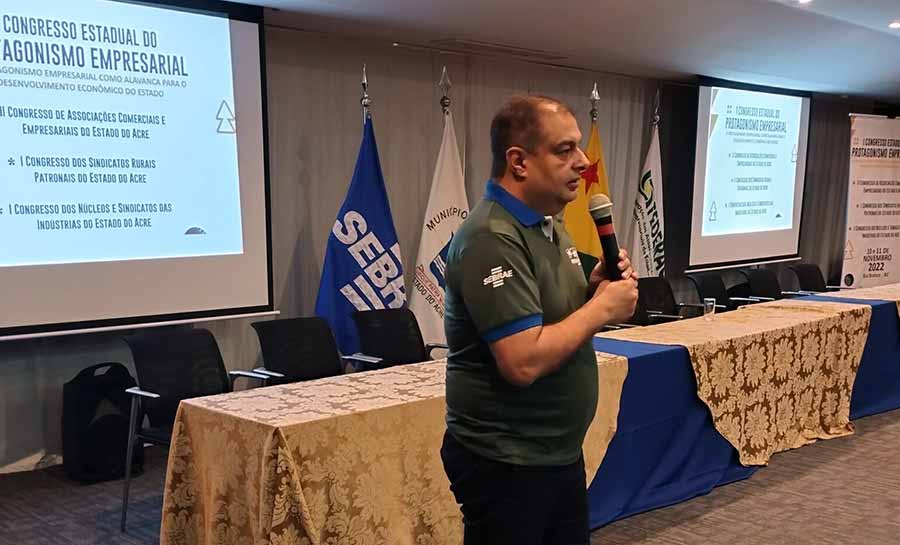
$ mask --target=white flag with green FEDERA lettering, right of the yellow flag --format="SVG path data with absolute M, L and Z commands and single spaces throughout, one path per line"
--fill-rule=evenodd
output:
M 650 149 L 641 170 L 634 201 L 634 226 L 629 253 L 638 276 L 665 276 L 666 248 L 663 221 L 662 162 L 659 131 L 653 125 Z

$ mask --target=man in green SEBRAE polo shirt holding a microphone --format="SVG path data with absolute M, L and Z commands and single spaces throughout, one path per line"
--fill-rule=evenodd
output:
M 553 218 L 589 163 L 571 110 L 510 99 L 491 123 L 484 199 L 453 237 L 441 448 L 465 545 L 587 545 L 582 443 L 597 407 L 591 337 L 634 313 L 636 275 L 590 282 Z

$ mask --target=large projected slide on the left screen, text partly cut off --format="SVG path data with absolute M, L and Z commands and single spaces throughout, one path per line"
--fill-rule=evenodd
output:
M 0 0 L 0 266 L 243 251 L 229 20 Z

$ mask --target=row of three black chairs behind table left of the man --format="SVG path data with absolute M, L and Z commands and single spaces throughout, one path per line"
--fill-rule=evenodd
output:
M 137 372 L 131 394 L 121 530 L 125 531 L 131 463 L 137 441 L 168 447 L 178 404 L 184 399 L 231 392 L 235 380 L 286 384 L 432 359 L 446 345 L 425 344 L 409 309 L 360 311 L 354 321 L 365 354 L 342 355 L 328 322 L 319 317 L 251 324 L 259 338 L 263 366 L 226 371 L 215 337 L 206 329 L 147 331 L 126 337 Z M 348 365 L 345 365 L 347 363 Z M 145 427 L 143 422 L 149 422 Z

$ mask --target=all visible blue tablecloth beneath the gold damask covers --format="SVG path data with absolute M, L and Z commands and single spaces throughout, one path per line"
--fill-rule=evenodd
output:
M 872 306 L 869 336 L 853 388 L 851 418 L 900 407 L 900 321 L 887 301 L 811 296 Z M 592 528 L 707 494 L 750 477 L 734 447 L 713 426 L 687 350 L 614 339 L 594 349 L 628 358 L 618 430 L 588 488 Z

